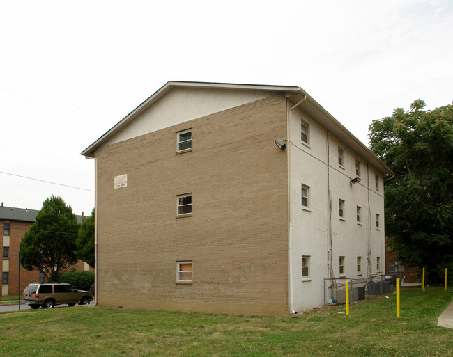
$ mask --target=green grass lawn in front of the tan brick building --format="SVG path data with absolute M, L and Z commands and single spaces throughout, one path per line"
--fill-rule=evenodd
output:
M 453 289 L 401 291 L 298 316 L 72 307 L 0 314 L 1 356 L 453 356 Z

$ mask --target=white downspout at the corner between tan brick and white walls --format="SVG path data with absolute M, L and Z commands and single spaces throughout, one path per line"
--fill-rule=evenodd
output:
M 293 299 L 293 258 L 292 258 L 292 241 L 293 241 L 293 220 L 292 220 L 292 214 L 291 214 L 291 112 L 300 106 L 300 104 L 307 99 L 307 95 L 302 92 L 302 90 L 299 89 L 299 93 L 303 95 L 304 97 L 300 102 L 295 104 L 291 109 L 289 109 L 288 113 L 288 220 L 289 220 L 289 225 L 288 225 L 288 264 L 289 264 L 289 308 L 290 308 L 290 313 L 295 314 L 296 312 L 294 311 L 294 299 Z

